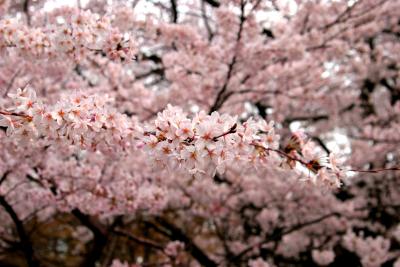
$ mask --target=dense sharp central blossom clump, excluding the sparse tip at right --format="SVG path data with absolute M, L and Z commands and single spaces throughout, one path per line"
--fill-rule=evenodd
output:
M 190 119 L 179 107 L 168 107 L 145 131 L 145 144 L 156 161 L 194 175 L 224 173 L 236 161 L 265 162 L 267 149 L 277 149 L 279 135 L 273 122 L 201 111 Z

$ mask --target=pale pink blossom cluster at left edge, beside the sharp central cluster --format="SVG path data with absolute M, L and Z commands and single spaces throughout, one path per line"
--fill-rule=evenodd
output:
M 9 94 L 14 107 L 2 112 L 0 125 L 7 134 L 27 142 L 44 137 L 48 141 L 77 145 L 88 150 L 126 148 L 133 135 L 126 115 L 107 107 L 107 97 L 82 92 L 67 95 L 54 106 L 46 106 L 30 88 Z

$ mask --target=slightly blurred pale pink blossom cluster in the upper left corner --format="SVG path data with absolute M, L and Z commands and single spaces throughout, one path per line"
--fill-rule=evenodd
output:
M 12 48 L 28 58 L 82 60 L 97 52 L 113 60 L 134 58 L 131 38 L 112 26 L 108 17 L 98 18 L 90 11 L 75 10 L 63 23 L 48 27 L 28 27 L 16 19 L 0 21 L 0 48 Z

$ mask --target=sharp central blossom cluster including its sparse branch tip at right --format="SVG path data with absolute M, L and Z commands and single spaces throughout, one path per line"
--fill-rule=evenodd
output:
M 144 134 L 146 147 L 157 162 L 195 176 L 223 174 L 227 166 L 238 164 L 275 164 L 300 172 L 298 167 L 305 167 L 306 180 L 329 188 L 339 187 L 344 177 L 336 156 L 321 157 L 303 135 L 294 134 L 280 150 L 273 121 L 250 118 L 239 123 L 235 116 L 204 111 L 189 118 L 181 108 L 168 105 Z

